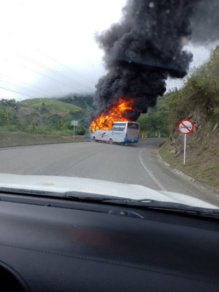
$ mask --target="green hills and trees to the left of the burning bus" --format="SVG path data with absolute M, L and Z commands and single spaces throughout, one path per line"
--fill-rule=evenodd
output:
M 76 120 L 79 123 L 75 135 L 84 135 L 89 127 L 89 113 L 94 110 L 92 104 L 92 96 L 71 94 L 60 99 L 35 98 L 21 102 L 0 99 L 0 132 L 71 136 L 71 120 Z

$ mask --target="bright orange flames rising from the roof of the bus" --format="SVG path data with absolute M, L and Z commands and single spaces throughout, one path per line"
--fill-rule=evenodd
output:
M 109 130 L 112 128 L 112 123 L 114 121 L 129 121 L 128 116 L 125 118 L 124 116 L 126 110 L 134 111 L 132 104 L 134 102 L 133 98 L 123 99 L 118 98 L 115 104 L 112 105 L 110 109 L 104 111 L 104 113 L 100 113 L 97 115 L 95 121 L 90 123 L 90 130 L 92 132 L 97 130 Z

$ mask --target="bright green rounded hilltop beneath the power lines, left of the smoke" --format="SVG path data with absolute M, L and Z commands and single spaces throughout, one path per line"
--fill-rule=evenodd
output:
M 81 107 L 78 107 L 74 104 L 69 104 L 66 102 L 61 102 L 56 99 L 49 98 L 33 98 L 33 99 L 25 99 L 22 102 L 19 102 L 20 107 L 41 107 L 42 103 L 45 104 L 45 107 L 48 110 L 61 110 L 61 111 L 78 111 L 83 110 Z M 88 106 L 88 105 L 87 105 Z

